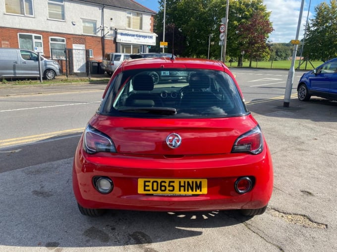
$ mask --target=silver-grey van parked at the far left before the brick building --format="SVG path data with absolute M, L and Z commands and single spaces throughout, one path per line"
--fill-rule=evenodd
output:
M 41 71 L 47 80 L 60 75 L 60 66 L 54 60 L 40 56 Z M 0 79 L 40 77 L 38 54 L 19 48 L 0 48 Z

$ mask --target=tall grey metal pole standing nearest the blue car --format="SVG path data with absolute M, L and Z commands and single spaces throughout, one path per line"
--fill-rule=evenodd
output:
M 298 17 L 297 32 L 296 32 L 296 39 L 295 39 L 296 41 L 298 40 L 298 34 L 299 34 L 300 27 L 301 27 L 303 5 L 304 5 L 304 0 L 302 0 L 301 10 L 299 12 L 299 17 Z M 289 103 L 290 103 L 291 88 L 292 88 L 292 83 L 294 81 L 294 73 L 295 73 L 295 67 L 294 66 L 295 66 L 297 46 L 298 46 L 298 44 L 294 45 L 294 51 L 292 53 L 292 59 L 291 59 L 291 66 L 290 66 L 289 73 L 288 73 L 288 79 L 286 80 L 284 102 L 283 102 L 283 107 L 285 107 L 285 108 L 288 108 Z

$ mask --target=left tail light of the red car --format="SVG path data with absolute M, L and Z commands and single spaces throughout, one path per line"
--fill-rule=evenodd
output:
M 90 125 L 84 130 L 83 149 L 88 154 L 116 152 L 110 137 Z

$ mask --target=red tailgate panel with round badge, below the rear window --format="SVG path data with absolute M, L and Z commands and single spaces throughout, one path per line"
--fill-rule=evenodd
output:
M 251 115 L 215 119 L 142 119 L 95 115 L 89 122 L 112 137 L 118 153 L 157 155 L 208 155 L 230 153 L 241 134 L 257 126 Z M 165 139 L 170 133 L 183 138 L 171 149 Z M 200 143 L 207 143 L 207 146 Z M 205 148 L 206 147 L 206 148 Z

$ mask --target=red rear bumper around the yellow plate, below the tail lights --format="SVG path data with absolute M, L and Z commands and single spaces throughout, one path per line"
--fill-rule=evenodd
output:
M 79 145 L 80 146 L 80 145 Z M 77 202 L 89 209 L 193 211 L 259 209 L 273 191 L 273 167 L 269 151 L 259 155 L 236 154 L 204 157 L 147 158 L 116 154 L 88 155 L 78 148 L 73 163 L 73 189 Z M 99 193 L 93 177 L 113 181 L 109 194 Z M 254 179 L 245 194 L 234 189 L 237 178 Z M 161 196 L 139 194 L 138 178 L 206 178 L 207 194 Z

